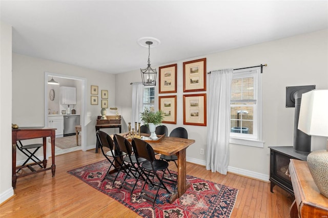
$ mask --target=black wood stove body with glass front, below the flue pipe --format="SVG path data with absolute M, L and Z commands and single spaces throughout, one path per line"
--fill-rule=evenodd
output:
M 270 190 L 278 185 L 294 196 L 292 182 L 289 179 L 288 166 L 290 159 L 306 161 L 308 154 L 300 154 L 293 146 L 275 146 L 270 148 Z

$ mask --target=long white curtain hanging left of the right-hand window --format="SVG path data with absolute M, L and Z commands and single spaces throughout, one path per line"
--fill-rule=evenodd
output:
M 229 164 L 230 93 L 233 69 L 210 74 L 206 169 L 227 175 Z

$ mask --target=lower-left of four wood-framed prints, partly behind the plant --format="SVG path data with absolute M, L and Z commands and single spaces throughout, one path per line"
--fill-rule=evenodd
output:
M 159 109 L 164 112 L 162 123 L 176 124 L 176 95 L 159 96 Z

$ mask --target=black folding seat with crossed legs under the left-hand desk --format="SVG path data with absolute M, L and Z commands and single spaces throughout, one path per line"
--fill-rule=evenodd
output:
M 24 155 L 26 155 L 28 157 L 28 159 L 26 159 L 26 161 L 22 164 L 22 166 L 17 167 L 18 170 L 16 172 L 19 172 L 20 169 L 22 169 L 23 167 L 25 167 L 25 164 L 29 161 L 32 160 L 34 162 L 34 164 L 29 164 L 27 165 L 27 167 L 31 170 L 31 171 L 35 171 L 34 168 L 32 167 L 32 165 L 39 165 L 41 168 L 43 168 L 43 166 L 39 163 L 41 162 L 40 159 L 38 159 L 35 156 L 36 151 L 43 146 L 43 144 L 28 144 L 28 145 L 23 145 L 21 141 L 17 141 L 18 143 L 16 143 L 16 147 L 18 148 L 18 150 L 22 151 L 22 153 Z M 34 149 L 31 150 L 30 149 Z

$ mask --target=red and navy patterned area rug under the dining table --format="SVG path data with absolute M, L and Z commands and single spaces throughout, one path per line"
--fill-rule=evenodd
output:
M 155 202 L 155 209 L 152 209 L 152 204 L 149 201 L 142 198 L 138 199 L 143 181 L 138 181 L 132 195 L 129 190 L 121 188 L 124 173 L 119 173 L 114 186 L 112 178 L 107 178 L 101 183 L 108 167 L 108 161 L 104 160 L 70 170 L 68 173 L 143 217 L 230 217 L 238 193 L 238 189 L 187 175 L 191 187 L 182 197 L 170 204 L 171 194 L 160 189 L 159 197 Z M 133 177 L 129 180 L 131 180 L 128 181 L 129 183 L 134 184 L 135 179 Z M 154 192 L 151 187 L 146 186 L 146 188 Z M 173 192 L 174 183 L 167 184 L 167 188 Z

